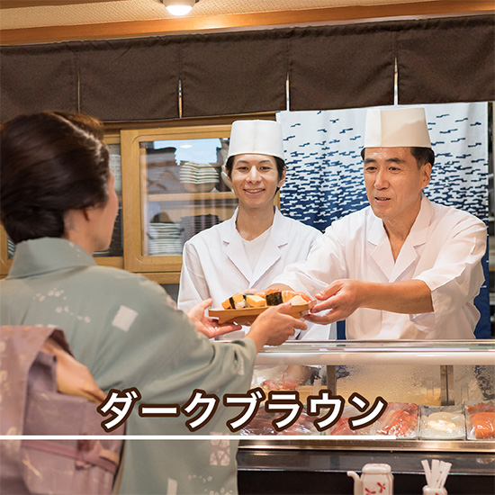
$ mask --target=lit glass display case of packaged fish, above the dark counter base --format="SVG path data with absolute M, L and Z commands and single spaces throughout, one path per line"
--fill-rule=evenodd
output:
M 257 356 L 257 388 L 265 402 L 241 432 L 244 447 L 273 447 L 255 437 L 270 435 L 290 439 L 276 448 L 495 448 L 490 340 L 287 342 Z M 281 429 L 283 397 L 300 414 Z

